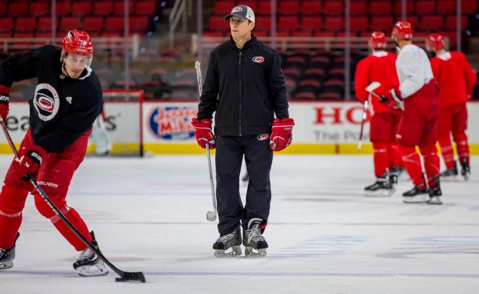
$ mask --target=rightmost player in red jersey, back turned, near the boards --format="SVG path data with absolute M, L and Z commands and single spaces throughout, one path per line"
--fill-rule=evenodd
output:
M 435 55 L 431 58 L 431 67 L 441 91 L 438 141 L 447 168 L 441 173 L 441 178 L 455 179 L 458 175 L 451 146 L 452 133 L 462 167 L 461 174 L 468 180 L 471 168 L 469 166 L 468 136 L 466 135 L 468 123 L 466 101 L 473 92 L 477 76 L 462 52 L 446 51 L 442 35 L 430 34 L 426 38 L 426 48 Z

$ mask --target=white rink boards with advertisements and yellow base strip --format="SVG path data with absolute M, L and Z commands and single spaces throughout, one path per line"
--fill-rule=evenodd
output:
M 363 107 L 357 101 L 289 102 L 289 115 L 294 118 L 293 144 L 281 154 L 369 154 L 368 111 L 363 144 L 358 151 L 358 139 Z M 140 109 L 141 107 L 141 109 Z M 194 102 L 105 102 L 106 129 L 114 151 L 138 148 L 153 154 L 198 154 L 191 118 L 198 113 Z M 479 154 L 479 103 L 469 102 L 470 128 L 467 131 L 471 153 Z M 28 104 L 10 103 L 7 128 L 15 143 L 21 142 L 28 128 Z M 94 147 L 89 147 L 94 148 Z M 0 136 L 0 152 L 11 152 Z

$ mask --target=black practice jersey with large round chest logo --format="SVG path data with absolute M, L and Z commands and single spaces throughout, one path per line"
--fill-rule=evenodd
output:
M 0 84 L 38 78 L 30 105 L 30 130 L 35 144 L 59 152 L 88 131 L 100 114 L 103 94 L 98 76 L 87 67 L 78 79 L 61 72 L 61 48 L 41 46 L 0 63 Z

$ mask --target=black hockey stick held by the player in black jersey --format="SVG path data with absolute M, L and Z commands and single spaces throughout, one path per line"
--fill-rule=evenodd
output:
M 11 151 L 13 151 L 13 154 L 15 155 L 15 157 L 19 159 L 18 151 L 16 150 L 16 147 L 13 144 L 13 141 L 11 140 L 10 134 L 8 133 L 8 130 L 6 129 L 5 123 L 3 122 L 1 118 L 0 118 L 0 126 L 1 126 L 1 129 L 3 130 L 3 133 L 5 134 L 6 140 L 8 141 L 8 145 L 10 145 Z M 88 242 L 88 240 L 86 240 L 85 237 L 83 237 L 83 235 L 81 235 L 80 232 L 78 232 L 75 229 L 75 227 L 73 227 L 73 225 L 61 213 L 61 211 L 58 208 L 56 208 L 53 202 L 51 202 L 50 198 L 48 198 L 46 193 L 40 188 L 40 186 L 35 181 L 33 176 L 31 174 L 27 174 L 26 176 L 28 177 L 28 180 L 30 180 L 30 183 L 33 185 L 33 187 L 35 187 L 35 190 L 40 194 L 41 198 L 45 200 L 46 204 L 48 204 L 48 206 L 55 212 L 55 214 L 62 220 L 62 222 L 73 232 L 73 234 L 75 234 L 75 236 L 78 237 L 78 239 L 80 239 L 81 242 L 83 242 L 83 244 L 85 244 L 91 251 L 93 251 L 96 254 L 96 256 L 98 256 L 99 259 L 101 259 L 105 264 L 107 264 L 110 267 L 110 269 L 112 269 L 115 273 L 118 274 L 118 276 L 121 277 L 121 278 L 116 278 L 115 279 L 116 282 L 126 282 L 130 280 L 141 281 L 142 283 L 146 282 L 145 276 L 143 275 L 142 272 L 138 272 L 138 273 L 123 272 L 119 270 L 117 267 L 115 267 L 112 263 L 110 263 L 99 250 L 97 250 L 93 245 L 91 245 L 91 243 Z

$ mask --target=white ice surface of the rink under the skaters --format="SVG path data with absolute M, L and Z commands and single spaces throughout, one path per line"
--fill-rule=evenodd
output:
M 2 176 L 10 160 L 0 156 Z M 409 181 L 391 198 L 363 196 L 374 181 L 371 156 L 275 156 L 268 256 L 217 259 L 206 156 L 87 158 L 68 204 L 104 255 L 143 271 L 147 283 L 115 283 L 113 272 L 79 277 L 76 252 L 29 196 L 0 292 L 478 293 L 478 172 L 473 157 L 469 182 L 443 183 L 442 206 L 403 204 Z

